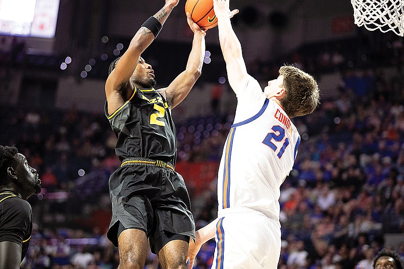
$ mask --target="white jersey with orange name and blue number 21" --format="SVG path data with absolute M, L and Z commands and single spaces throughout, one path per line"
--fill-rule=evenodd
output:
M 254 78 L 243 81 L 237 100 L 219 166 L 219 214 L 226 208 L 249 207 L 279 221 L 280 185 L 292 170 L 299 133 Z

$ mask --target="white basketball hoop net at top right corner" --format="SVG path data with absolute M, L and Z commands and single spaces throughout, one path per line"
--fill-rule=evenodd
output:
M 351 0 L 355 24 L 404 36 L 404 0 Z

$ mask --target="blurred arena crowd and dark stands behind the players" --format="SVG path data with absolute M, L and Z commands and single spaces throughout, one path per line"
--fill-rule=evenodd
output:
M 22 268 L 116 268 L 106 239 L 108 178 L 119 165 L 104 116 L 110 63 L 164 1 L 0 1 L 0 144 L 42 180 Z M 192 32 L 181 0 L 143 53 L 157 88 L 184 70 Z M 283 64 L 313 74 L 322 103 L 295 118 L 302 142 L 281 188 L 279 268 L 371 268 L 383 247 L 404 256 L 404 43 L 354 24 L 348 0 L 231 0 L 248 73 L 263 86 Z M 173 110 L 176 170 L 197 228 L 216 218 L 216 174 L 236 98 L 217 28 L 203 74 Z M 269 244 L 271 242 L 268 242 Z M 196 268 L 210 268 L 215 242 Z M 160 268 L 150 254 L 145 268 Z M 362 267 L 361 267 L 362 266 Z M 369 267 L 370 266 L 370 267 Z

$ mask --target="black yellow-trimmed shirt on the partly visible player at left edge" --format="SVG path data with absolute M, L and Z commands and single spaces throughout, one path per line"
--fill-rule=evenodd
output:
M 22 261 L 27 254 L 31 233 L 31 205 L 12 192 L 0 192 L 0 242 L 19 244 Z

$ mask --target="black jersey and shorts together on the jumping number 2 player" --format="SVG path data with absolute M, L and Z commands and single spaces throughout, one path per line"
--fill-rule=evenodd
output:
M 112 221 L 108 238 L 117 246 L 124 229 L 143 230 L 158 253 L 173 239 L 195 237 L 190 200 L 182 177 L 174 171 L 176 131 L 164 96 L 155 89 L 134 89 L 113 114 L 105 113 L 117 136 L 122 162 L 110 177 Z

